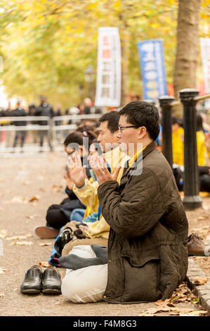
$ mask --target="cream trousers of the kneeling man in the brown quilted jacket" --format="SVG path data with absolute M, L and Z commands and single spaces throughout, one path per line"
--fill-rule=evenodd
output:
M 81 258 L 96 258 L 90 245 L 74 246 L 69 254 L 75 254 Z M 62 280 L 61 292 L 74 304 L 86 304 L 101 301 L 106 286 L 107 264 L 102 264 L 77 270 L 67 269 Z

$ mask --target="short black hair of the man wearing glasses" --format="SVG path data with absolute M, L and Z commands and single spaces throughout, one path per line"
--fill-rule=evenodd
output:
M 126 120 L 138 127 L 145 126 L 152 140 L 159 135 L 159 112 L 155 105 L 145 101 L 131 101 L 120 111 L 119 115 L 126 115 Z

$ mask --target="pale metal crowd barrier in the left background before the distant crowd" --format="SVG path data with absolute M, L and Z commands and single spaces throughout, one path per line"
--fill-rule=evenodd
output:
M 81 123 L 82 120 L 100 118 L 102 114 L 88 114 L 88 115 L 63 115 L 50 118 L 48 116 L 15 116 L 15 117 L 1 117 L 0 118 L 0 157 L 5 156 L 11 152 L 18 151 L 63 151 L 63 140 L 65 137 Z M 14 125 L 14 122 L 26 122 L 26 125 Z M 46 121 L 47 125 L 39 125 L 39 121 Z M 68 124 L 69 122 L 72 122 Z M 32 124 L 36 122 L 36 124 Z M 59 123 L 59 125 L 58 125 Z M 14 139 L 14 132 L 27 132 L 26 142 L 22 149 L 20 147 L 13 147 L 8 140 Z M 39 146 L 39 135 L 46 135 L 48 146 Z M 27 142 L 29 135 L 35 134 L 37 142 Z M 3 137 L 4 136 L 4 137 Z M 4 138 L 4 139 L 3 139 Z

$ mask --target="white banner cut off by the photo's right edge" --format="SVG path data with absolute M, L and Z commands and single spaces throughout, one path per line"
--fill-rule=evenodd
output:
M 210 92 L 210 38 L 200 38 L 205 93 Z

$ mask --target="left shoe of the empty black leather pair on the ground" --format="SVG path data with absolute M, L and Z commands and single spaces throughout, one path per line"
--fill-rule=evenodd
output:
M 27 270 L 25 278 L 20 286 L 23 294 L 36 294 L 41 292 L 42 271 L 39 266 L 32 266 Z

